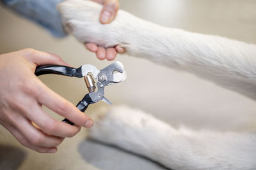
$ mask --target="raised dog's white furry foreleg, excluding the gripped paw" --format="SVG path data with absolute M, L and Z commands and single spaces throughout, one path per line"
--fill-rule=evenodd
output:
M 168 29 L 143 20 L 140 25 L 127 36 L 129 43 L 124 46 L 130 55 L 195 73 L 255 99 L 256 45 Z

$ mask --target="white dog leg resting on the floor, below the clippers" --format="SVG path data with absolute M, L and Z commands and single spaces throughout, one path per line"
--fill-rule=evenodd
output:
M 172 169 L 255 169 L 256 135 L 174 129 L 124 106 L 95 113 L 90 138 L 143 155 Z

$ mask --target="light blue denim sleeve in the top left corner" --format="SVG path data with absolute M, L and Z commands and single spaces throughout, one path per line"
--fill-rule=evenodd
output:
M 33 20 L 48 29 L 54 36 L 63 37 L 60 13 L 56 5 L 63 0 L 0 0 L 20 15 Z

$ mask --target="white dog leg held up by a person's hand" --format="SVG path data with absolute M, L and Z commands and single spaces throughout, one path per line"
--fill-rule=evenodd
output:
M 130 55 L 188 70 L 256 99 L 256 45 L 161 27 L 122 10 L 102 25 L 101 6 L 90 1 L 68 0 L 58 8 L 63 24 L 83 43 L 121 45 Z

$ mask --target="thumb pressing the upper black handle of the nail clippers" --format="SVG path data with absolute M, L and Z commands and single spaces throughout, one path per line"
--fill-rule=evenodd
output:
M 57 64 L 67 66 L 68 64 L 60 56 L 53 53 L 40 52 L 32 48 L 22 50 L 24 56 L 35 63 L 37 66 L 45 64 Z

